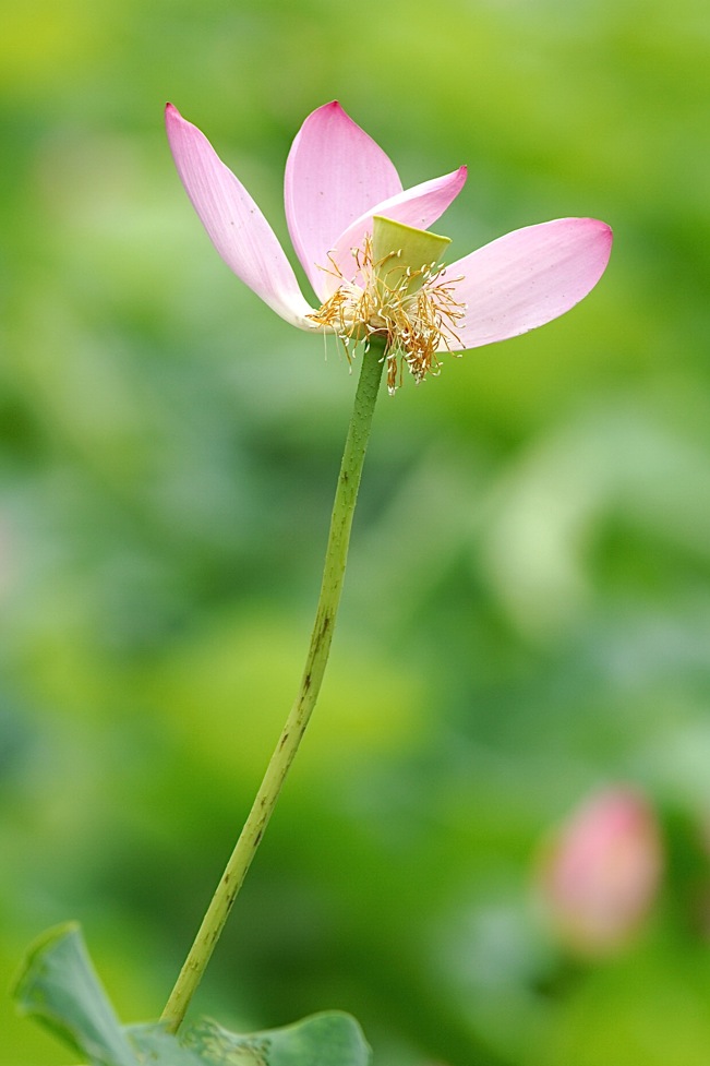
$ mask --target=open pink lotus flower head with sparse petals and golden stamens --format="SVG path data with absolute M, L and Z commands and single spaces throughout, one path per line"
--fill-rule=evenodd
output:
M 272 227 L 207 139 L 171 104 L 166 123 L 182 183 L 227 265 L 287 322 L 335 333 L 348 352 L 380 337 L 390 392 L 402 363 L 421 381 L 438 370 L 440 352 L 564 314 L 609 261 L 609 226 L 557 218 L 444 267 L 449 241 L 428 229 L 461 191 L 466 167 L 402 190 L 387 155 L 333 101 L 305 119 L 286 164 L 286 218 L 318 300 L 311 307 Z

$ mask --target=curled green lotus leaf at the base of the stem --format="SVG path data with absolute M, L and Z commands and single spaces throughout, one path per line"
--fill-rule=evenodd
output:
M 238 1035 L 205 1019 L 176 1037 L 156 1026 L 122 1028 L 101 989 L 79 927 L 63 925 L 31 949 L 15 987 L 35 1016 L 92 1066 L 368 1066 L 358 1023 L 320 1014 L 293 1026 Z

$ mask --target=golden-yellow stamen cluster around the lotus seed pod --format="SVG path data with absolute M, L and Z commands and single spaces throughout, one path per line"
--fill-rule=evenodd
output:
M 437 374 L 437 354 L 452 350 L 458 340 L 456 325 L 465 306 L 454 297 L 455 280 L 444 279 L 444 267 L 431 264 L 420 270 L 398 264 L 401 252 L 373 261 L 372 237 L 353 249 L 354 280 L 348 280 L 330 260 L 327 271 L 338 287 L 310 318 L 342 342 L 348 359 L 358 344 L 368 350 L 373 337 L 384 340 L 387 387 L 401 385 L 405 366 L 417 382 Z M 456 279 L 460 280 L 460 279 Z

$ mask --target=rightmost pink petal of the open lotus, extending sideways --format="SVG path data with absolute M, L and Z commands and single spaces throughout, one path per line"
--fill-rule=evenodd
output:
M 466 319 L 452 349 L 505 340 L 569 311 L 597 285 L 611 250 L 605 223 L 557 218 L 516 229 L 453 263 L 444 280 L 454 283 Z

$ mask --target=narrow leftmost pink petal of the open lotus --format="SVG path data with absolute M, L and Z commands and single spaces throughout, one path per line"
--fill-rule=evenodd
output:
M 284 249 L 244 187 L 172 104 L 166 127 L 178 173 L 225 263 L 287 322 L 314 328 Z

